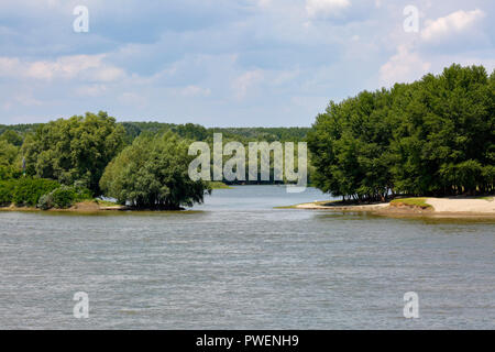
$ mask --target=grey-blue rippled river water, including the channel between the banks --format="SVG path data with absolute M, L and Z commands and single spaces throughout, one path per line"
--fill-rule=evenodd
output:
M 243 186 L 185 212 L 0 212 L 0 329 L 495 328 L 495 221 L 273 209 L 326 198 Z

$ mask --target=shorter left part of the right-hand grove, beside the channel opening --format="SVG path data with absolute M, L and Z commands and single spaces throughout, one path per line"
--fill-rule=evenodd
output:
M 375 201 L 392 187 L 388 123 L 391 94 L 363 91 L 330 102 L 308 134 L 315 185 L 326 193 Z

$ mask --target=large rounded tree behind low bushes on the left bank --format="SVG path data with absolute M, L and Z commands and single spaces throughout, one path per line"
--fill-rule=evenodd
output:
M 124 130 L 106 112 L 87 112 L 42 125 L 25 138 L 22 153 L 29 175 L 78 182 L 100 195 L 99 180 L 108 163 L 122 150 Z

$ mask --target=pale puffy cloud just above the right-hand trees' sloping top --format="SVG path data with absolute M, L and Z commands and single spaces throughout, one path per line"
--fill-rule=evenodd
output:
M 380 68 L 382 84 L 392 86 L 395 82 L 409 82 L 421 78 L 431 68 L 418 53 L 411 53 L 406 45 L 397 47 L 397 54 Z

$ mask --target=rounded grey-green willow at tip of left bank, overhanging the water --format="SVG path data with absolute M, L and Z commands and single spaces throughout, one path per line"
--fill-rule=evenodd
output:
M 188 175 L 189 143 L 176 134 L 141 135 L 112 161 L 101 178 L 101 189 L 119 204 L 140 209 L 176 210 L 201 204 L 211 189 Z

